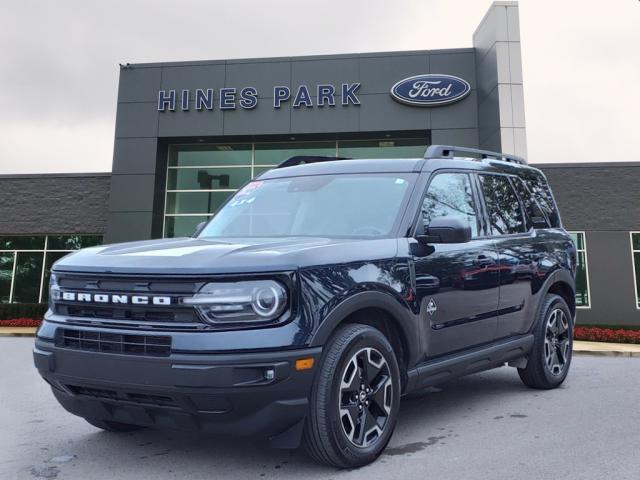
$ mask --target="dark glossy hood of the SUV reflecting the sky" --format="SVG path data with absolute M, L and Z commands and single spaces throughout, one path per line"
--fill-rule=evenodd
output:
M 381 260 L 396 252 L 393 238 L 171 238 L 85 248 L 60 259 L 53 269 L 157 275 L 249 273 Z

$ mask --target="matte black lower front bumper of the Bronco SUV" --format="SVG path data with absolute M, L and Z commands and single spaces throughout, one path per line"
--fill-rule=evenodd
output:
M 61 348 L 36 339 L 42 377 L 69 412 L 135 425 L 263 436 L 294 448 L 321 349 L 150 357 Z M 270 373 L 272 372 L 272 374 Z M 273 376 L 273 378 L 271 378 Z

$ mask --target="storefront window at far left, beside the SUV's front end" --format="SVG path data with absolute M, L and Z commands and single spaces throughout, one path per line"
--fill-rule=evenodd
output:
M 46 302 L 53 263 L 101 243 L 101 235 L 0 237 L 0 303 Z

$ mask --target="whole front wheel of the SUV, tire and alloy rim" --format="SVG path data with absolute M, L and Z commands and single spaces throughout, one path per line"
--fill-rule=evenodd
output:
M 309 455 L 339 468 L 373 462 L 393 434 L 400 388 L 398 362 L 382 332 L 341 326 L 325 347 L 311 391 L 304 429 Z

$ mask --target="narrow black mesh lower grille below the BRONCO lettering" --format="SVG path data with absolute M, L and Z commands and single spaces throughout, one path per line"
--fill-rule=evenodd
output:
M 61 328 L 56 334 L 56 346 L 90 352 L 168 357 L 171 354 L 171 337 Z

